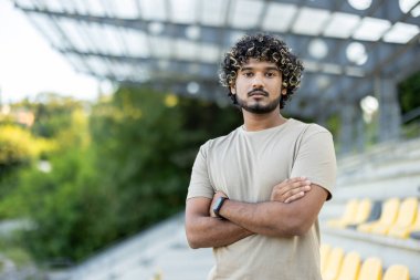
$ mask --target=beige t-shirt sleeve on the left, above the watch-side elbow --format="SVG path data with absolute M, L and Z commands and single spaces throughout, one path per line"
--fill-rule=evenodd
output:
M 187 199 L 192 197 L 207 197 L 211 199 L 214 195 L 207 165 L 208 149 L 209 145 L 207 143 L 200 147 L 200 151 L 197 154 L 195 164 L 192 166 Z

